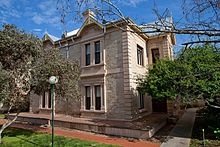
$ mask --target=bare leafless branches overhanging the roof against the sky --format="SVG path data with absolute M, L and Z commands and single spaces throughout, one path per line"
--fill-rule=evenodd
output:
M 127 19 L 128 17 L 119 9 L 119 0 L 57 0 L 57 9 L 61 14 L 61 22 L 65 24 L 65 18 L 72 14 L 74 20 L 81 18 L 85 9 L 91 9 L 97 19 L 103 23 L 111 23 L 123 30 L 120 25 L 114 23 L 115 20 L 122 20 L 128 26 L 136 25 Z M 184 45 L 194 43 L 219 43 L 220 22 L 219 22 L 219 0 L 183 0 L 183 18 L 173 20 L 168 9 L 160 12 L 155 3 L 154 13 L 157 21 L 148 24 L 147 22 L 139 25 L 142 33 L 175 33 L 196 35 L 195 40 L 184 43 Z

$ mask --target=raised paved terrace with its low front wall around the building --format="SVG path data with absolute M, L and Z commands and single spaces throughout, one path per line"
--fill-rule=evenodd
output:
M 9 117 L 13 117 L 11 114 Z M 33 125 L 50 125 L 51 116 L 47 114 L 20 113 L 18 122 Z M 166 113 L 152 113 L 133 121 L 79 118 L 56 114 L 56 127 L 77 129 L 99 134 L 147 139 L 152 137 L 167 122 Z

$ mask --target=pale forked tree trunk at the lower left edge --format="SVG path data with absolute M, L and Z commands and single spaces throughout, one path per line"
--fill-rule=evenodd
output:
M 2 144 L 2 132 L 9 127 L 13 122 L 16 121 L 16 119 L 18 118 L 19 112 L 16 113 L 15 117 L 10 120 L 9 119 L 9 114 L 10 114 L 10 110 L 11 110 L 12 106 L 9 107 L 8 109 L 8 113 L 7 113 L 7 121 L 2 125 L 1 129 L 0 129 L 0 144 Z

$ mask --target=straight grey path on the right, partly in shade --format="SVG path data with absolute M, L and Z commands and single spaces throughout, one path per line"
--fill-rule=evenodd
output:
M 187 109 L 161 147 L 189 147 L 197 108 Z

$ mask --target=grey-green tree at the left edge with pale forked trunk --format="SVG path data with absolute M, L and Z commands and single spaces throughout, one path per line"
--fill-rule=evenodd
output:
M 8 106 L 8 114 L 13 108 L 16 116 L 7 119 L 2 131 L 13 123 L 22 109 L 31 90 L 33 62 L 39 54 L 41 42 L 31 34 L 17 29 L 13 25 L 4 25 L 0 30 L 0 94 L 1 103 Z

